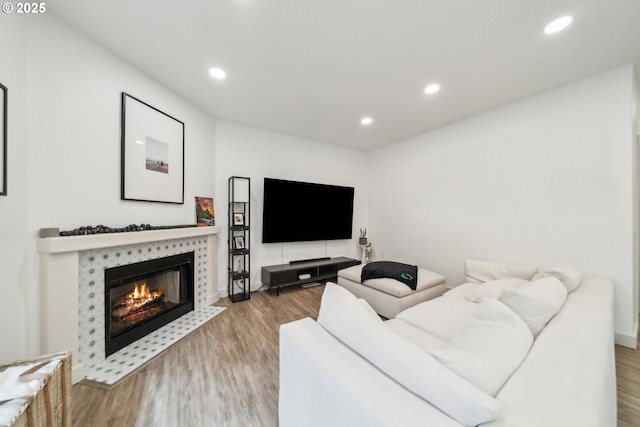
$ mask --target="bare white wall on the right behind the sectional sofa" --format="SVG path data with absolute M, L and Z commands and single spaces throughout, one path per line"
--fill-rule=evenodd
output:
M 631 66 L 376 150 L 379 258 L 463 282 L 465 258 L 570 262 L 616 283 L 635 337 Z

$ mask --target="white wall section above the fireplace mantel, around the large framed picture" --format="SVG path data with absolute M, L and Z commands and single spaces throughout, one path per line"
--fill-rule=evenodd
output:
M 212 117 L 54 18 L 31 28 L 29 76 L 31 227 L 195 221 L 194 196 L 214 191 Z M 120 200 L 123 91 L 185 123 L 184 205 Z

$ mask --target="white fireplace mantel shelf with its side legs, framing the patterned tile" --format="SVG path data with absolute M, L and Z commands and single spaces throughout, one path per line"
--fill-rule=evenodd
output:
M 73 382 L 84 378 L 79 355 L 80 253 L 104 248 L 145 245 L 175 239 L 206 238 L 209 271 L 206 303 L 220 299 L 217 289 L 217 239 L 220 227 L 187 227 L 105 233 L 84 236 L 46 237 L 37 241 L 40 253 L 40 351 L 73 353 Z

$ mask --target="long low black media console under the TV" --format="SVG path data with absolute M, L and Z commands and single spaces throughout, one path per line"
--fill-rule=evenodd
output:
M 280 288 L 306 283 L 336 280 L 338 270 L 360 264 L 360 260 L 337 257 L 319 260 L 294 262 L 291 264 L 270 265 L 262 267 L 262 283 L 269 289 L 276 288 L 276 296 Z M 303 276 L 303 279 L 300 279 Z

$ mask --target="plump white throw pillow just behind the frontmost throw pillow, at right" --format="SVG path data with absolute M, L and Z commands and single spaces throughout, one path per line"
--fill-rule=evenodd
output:
M 534 336 L 560 311 L 567 299 L 567 289 L 555 277 L 545 277 L 519 288 L 505 289 L 499 300 L 527 324 Z

